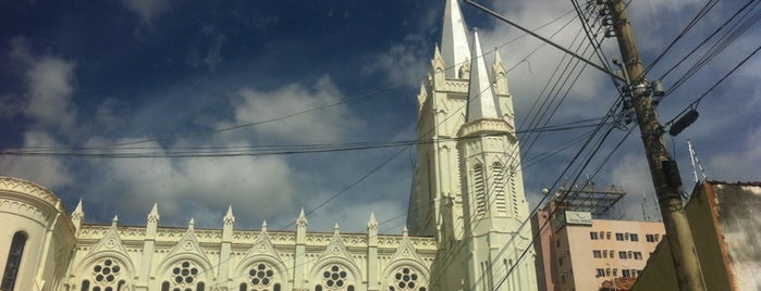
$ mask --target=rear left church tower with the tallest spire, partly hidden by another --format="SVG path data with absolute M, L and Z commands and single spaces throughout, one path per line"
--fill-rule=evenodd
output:
M 455 138 L 465 122 L 468 93 L 468 80 L 462 77 L 470 74 L 470 49 L 457 0 L 446 1 L 443 23 L 441 48 L 433 51 L 428 83 L 418 96 L 417 138 L 427 142 L 418 144 L 407 226 L 412 236 L 435 236 L 446 244 L 463 235 Z

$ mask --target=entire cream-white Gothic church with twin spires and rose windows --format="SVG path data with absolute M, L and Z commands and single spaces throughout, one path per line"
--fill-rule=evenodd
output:
M 490 58 L 491 59 L 491 58 Z M 418 163 L 407 228 L 379 235 L 84 222 L 45 187 L 0 176 L 0 290 L 537 290 L 513 97 L 456 0 L 418 96 Z M 365 218 L 361 218 L 365 219 Z

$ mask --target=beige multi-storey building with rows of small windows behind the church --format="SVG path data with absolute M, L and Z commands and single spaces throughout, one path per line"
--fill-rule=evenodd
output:
M 660 222 L 615 219 L 624 195 L 612 186 L 561 190 L 532 217 L 541 242 L 535 244 L 539 290 L 597 291 L 640 275 L 665 229 Z

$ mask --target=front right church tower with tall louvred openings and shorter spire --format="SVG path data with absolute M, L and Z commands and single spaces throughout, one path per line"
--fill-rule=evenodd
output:
M 532 256 L 518 262 L 531 239 L 529 228 L 521 228 L 528 218 L 528 204 L 520 178 L 518 140 L 512 116 L 506 119 L 501 112 L 478 31 L 472 37 L 471 59 L 468 113 L 457 141 L 467 245 L 465 289 L 536 290 Z M 513 268 L 516 262 L 520 265 Z M 517 286 L 502 284 L 503 280 Z

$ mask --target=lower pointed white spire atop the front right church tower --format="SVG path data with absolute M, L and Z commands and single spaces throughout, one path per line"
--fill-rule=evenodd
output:
M 500 118 L 494 92 L 491 88 L 487 64 L 483 60 L 478 30 L 472 33 L 472 64 L 470 67 L 470 85 L 468 91 L 468 115 L 466 122 L 478 119 Z

